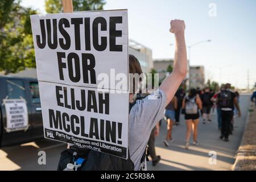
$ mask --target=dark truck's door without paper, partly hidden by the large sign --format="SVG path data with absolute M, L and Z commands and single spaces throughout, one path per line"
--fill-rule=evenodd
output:
M 32 119 L 32 131 L 31 138 L 43 138 L 43 118 L 42 109 L 40 104 L 38 81 L 29 80 L 28 84 L 30 92 L 29 98 L 31 100 L 31 119 Z

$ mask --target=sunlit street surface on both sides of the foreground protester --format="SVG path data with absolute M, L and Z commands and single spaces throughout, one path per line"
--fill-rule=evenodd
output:
M 148 162 L 148 170 L 230 170 L 240 146 L 243 128 L 246 122 L 249 106 L 249 95 L 242 95 L 240 107 L 241 118 L 235 118 L 234 132 L 229 142 L 221 141 L 218 137 L 217 115 L 212 115 L 212 123 L 199 123 L 199 146 L 190 146 L 185 150 L 185 123 L 181 115 L 179 126 L 173 129 L 174 142 L 165 147 L 163 140 L 166 136 L 166 123 L 160 127 L 159 137 L 156 138 L 156 154 L 162 160 L 156 167 Z M 192 138 L 191 138 L 192 142 Z M 64 143 L 50 140 L 25 143 L 17 146 L 3 147 L 0 150 L 1 170 L 56 170 L 60 152 L 67 147 Z M 38 164 L 38 152 L 46 152 L 46 164 Z M 209 151 L 217 154 L 217 163 L 209 164 Z

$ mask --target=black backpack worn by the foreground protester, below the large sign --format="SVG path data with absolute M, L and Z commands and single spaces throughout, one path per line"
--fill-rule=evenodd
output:
M 129 110 L 133 105 L 130 104 Z M 145 149 L 141 158 L 141 170 L 144 167 L 144 160 L 148 160 L 146 151 Z M 106 153 L 72 146 L 61 152 L 57 170 L 63 171 L 68 163 L 80 164 L 81 167 L 77 168 L 77 171 L 134 171 L 134 163 L 130 159 L 129 148 L 128 159 L 126 160 Z

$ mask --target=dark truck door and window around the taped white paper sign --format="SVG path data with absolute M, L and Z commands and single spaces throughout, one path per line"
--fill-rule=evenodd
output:
M 3 86 L 4 85 L 4 86 Z M 5 98 L 7 99 L 19 99 L 24 98 L 27 101 L 26 86 L 23 79 L 20 78 L 6 78 L 2 88 L 5 89 Z M 28 117 L 28 128 L 27 130 L 19 131 L 8 131 L 7 119 L 6 119 L 6 108 L 2 105 L 3 115 L 3 134 L 1 146 L 8 146 L 11 144 L 28 142 L 31 137 L 31 119 Z M 31 115 L 31 107 L 27 104 L 28 116 Z

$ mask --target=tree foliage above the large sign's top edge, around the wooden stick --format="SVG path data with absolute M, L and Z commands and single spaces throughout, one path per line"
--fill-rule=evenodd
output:
M 73 0 L 73 11 L 103 10 L 104 0 Z M 46 0 L 47 13 L 62 13 L 63 6 L 60 0 Z

